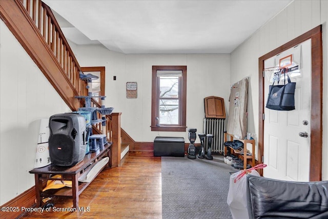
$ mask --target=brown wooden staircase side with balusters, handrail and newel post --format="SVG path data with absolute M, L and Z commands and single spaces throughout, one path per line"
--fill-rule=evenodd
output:
M 84 107 L 84 101 L 74 97 L 88 95 L 87 83 L 79 77 L 81 68 L 51 9 L 40 0 L 0 1 L 0 17 L 70 109 Z M 91 105 L 101 107 L 93 98 Z M 101 123 L 92 127 L 113 143 L 112 166 L 120 164 L 120 115 L 106 115 L 105 133 Z

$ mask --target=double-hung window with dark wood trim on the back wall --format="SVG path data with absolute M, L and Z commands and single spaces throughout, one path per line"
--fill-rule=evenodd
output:
M 153 66 L 152 131 L 186 131 L 187 66 Z

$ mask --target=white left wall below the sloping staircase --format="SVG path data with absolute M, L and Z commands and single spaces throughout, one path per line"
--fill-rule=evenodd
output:
M 0 20 L 0 205 L 34 186 L 40 118 L 69 112 L 63 99 Z

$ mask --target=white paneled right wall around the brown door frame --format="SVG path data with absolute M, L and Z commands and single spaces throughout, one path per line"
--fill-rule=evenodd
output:
M 265 24 L 252 37 L 231 53 L 231 81 L 235 78 L 250 77 L 248 130 L 258 130 L 258 58 L 293 38 L 323 25 L 323 161 L 322 180 L 328 180 L 328 79 L 327 41 L 328 1 L 295 1 Z M 258 136 L 255 136 L 256 141 Z

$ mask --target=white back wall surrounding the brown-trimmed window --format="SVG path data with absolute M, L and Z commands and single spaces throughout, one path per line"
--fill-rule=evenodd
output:
M 202 132 L 204 97 L 223 97 L 226 111 L 229 106 L 229 54 L 121 54 L 99 45 L 73 45 L 72 50 L 80 66 L 106 67 L 106 106 L 114 107 L 114 112 L 122 112 L 121 127 L 137 142 L 153 142 L 157 135 L 181 136 L 189 142 L 188 131 L 151 131 L 153 65 L 187 66 L 188 128 Z M 113 81 L 114 75 L 116 81 Z M 127 82 L 137 82 L 137 98 L 126 98 Z

